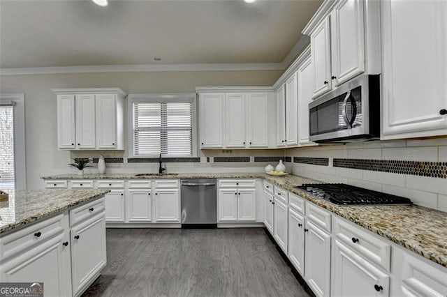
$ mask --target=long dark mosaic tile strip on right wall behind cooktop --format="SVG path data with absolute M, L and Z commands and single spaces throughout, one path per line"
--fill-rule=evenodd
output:
M 402 160 L 334 159 L 334 167 L 447 178 L 447 162 Z

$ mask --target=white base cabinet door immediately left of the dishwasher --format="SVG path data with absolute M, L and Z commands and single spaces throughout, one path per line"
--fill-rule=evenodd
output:
M 180 222 L 179 189 L 154 190 L 154 218 L 156 222 Z

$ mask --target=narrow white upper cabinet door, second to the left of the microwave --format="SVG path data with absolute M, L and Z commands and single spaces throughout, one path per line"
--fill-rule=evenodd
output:
M 298 144 L 298 97 L 296 73 L 286 81 L 286 144 Z

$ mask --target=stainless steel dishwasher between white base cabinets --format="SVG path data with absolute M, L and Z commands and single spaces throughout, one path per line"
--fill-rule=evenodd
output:
M 182 179 L 182 228 L 217 228 L 215 179 Z

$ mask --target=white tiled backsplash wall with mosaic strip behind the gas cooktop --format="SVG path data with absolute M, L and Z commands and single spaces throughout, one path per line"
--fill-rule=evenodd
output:
M 293 156 L 293 174 L 409 197 L 415 204 L 447 211 L 447 138 L 293 148 L 285 153 Z

